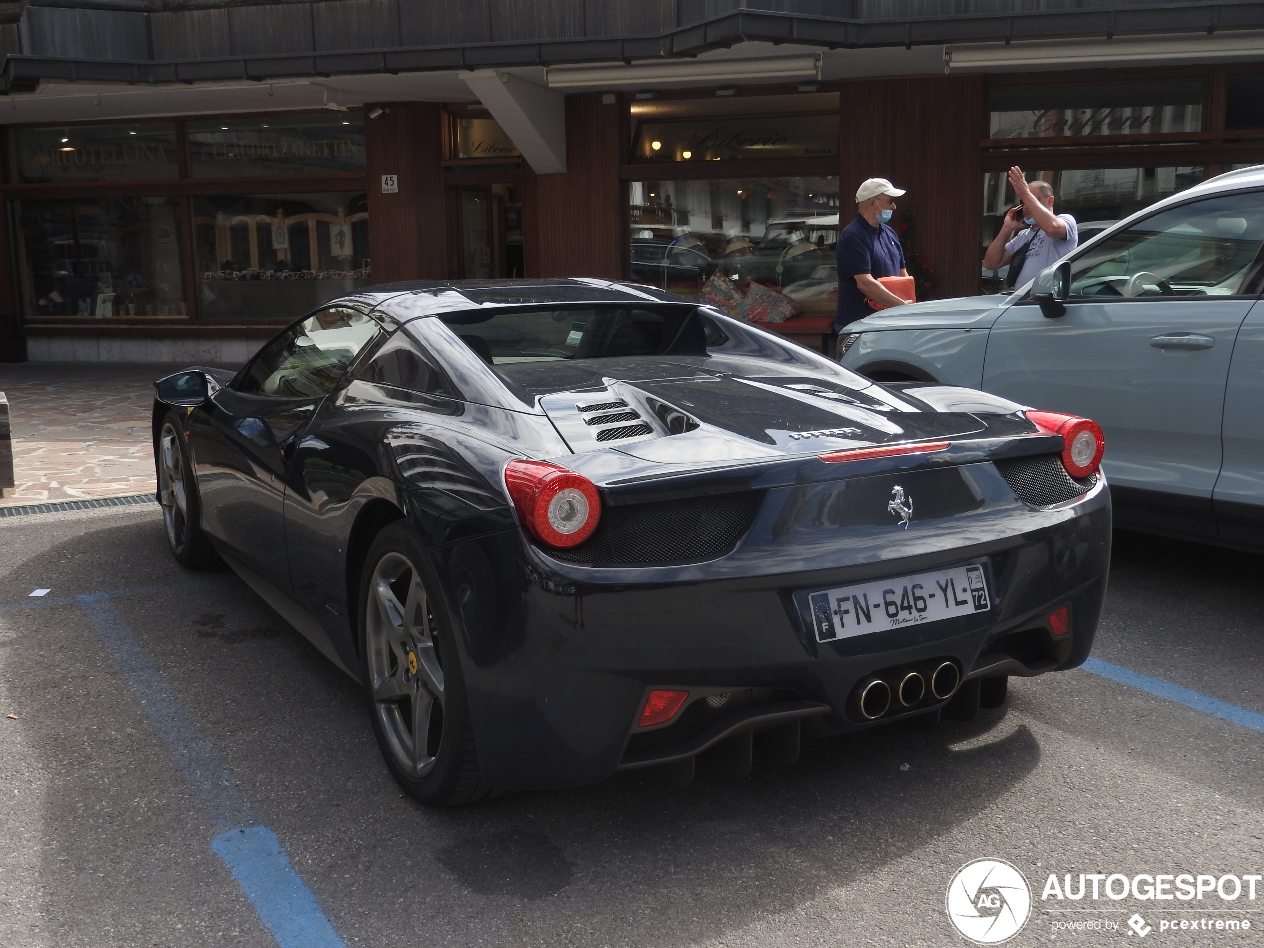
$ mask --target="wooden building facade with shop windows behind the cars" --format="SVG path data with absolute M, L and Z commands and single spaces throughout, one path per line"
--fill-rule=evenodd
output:
M 947 63 L 932 72 L 908 46 L 866 68 L 896 75 L 830 77 L 801 42 L 669 78 L 618 73 L 617 51 L 594 53 L 586 81 L 528 63 L 494 73 L 517 112 L 498 86 L 453 78 L 480 75 L 466 53 L 425 88 L 383 57 L 358 88 L 258 76 L 198 100 L 222 111 L 181 112 L 172 92 L 112 118 L 46 105 L 52 120 L 34 100 L 18 112 L 23 59 L 5 73 L 0 359 L 240 362 L 329 296 L 411 279 L 579 276 L 689 296 L 719 273 L 828 315 L 832 238 L 868 177 L 908 190 L 896 224 L 921 284 L 963 296 L 995 286 L 981 259 L 1010 166 L 1085 226 L 1264 162 L 1264 64 L 1249 56 L 962 70 L 930 44 Z M 712 78 L 715 62 L 729 75 Z M 910 62 L 920 72 L 900 75 Z M 264 87 L 277 107 L 252 107 Z M 551 99 L 537 107 L 532 90 Z M 549 128 L 564 128 L 551 153 Z

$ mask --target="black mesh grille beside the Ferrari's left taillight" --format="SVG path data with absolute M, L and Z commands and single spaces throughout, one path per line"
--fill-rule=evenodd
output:
M 762 492 L 746 490 L 607 507 L 592 537 L 549 555 L 593 565 L 713 560 L 737 546 L 761 499 Z

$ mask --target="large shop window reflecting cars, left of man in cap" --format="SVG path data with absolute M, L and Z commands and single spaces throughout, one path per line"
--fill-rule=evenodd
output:
M 837 177 L 633 181 L 628 210 L 637 283 L 693 298 L 719 272 L 833 311 Z

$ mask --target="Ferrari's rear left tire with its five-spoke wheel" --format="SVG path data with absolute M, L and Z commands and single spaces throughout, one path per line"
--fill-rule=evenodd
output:
M 447 598 L 417 535 L 387 525 L 364 560 L 360 655 L 373 733 L 396 782 L 427 806 L 489 796 Z

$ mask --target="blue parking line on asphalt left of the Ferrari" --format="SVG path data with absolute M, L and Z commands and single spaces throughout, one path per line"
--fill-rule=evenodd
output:
M 169 586 L 159 586 L 169 589 Z M 126 590 L 134 594 L 134 590 Z M 219 833 L 211 849 L 228 866 L 281 948 L 343 948 L 316 896 L 289 865 L 276 834 L 236 789 L 224 758 L 197 727 L 109 593 L 73 597 L 119 666 L 172 760 Z

